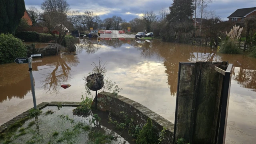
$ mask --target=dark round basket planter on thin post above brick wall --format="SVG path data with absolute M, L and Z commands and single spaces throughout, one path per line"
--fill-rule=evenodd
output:
M 104 76 L 102 74 L 91 74 L 86 78 L 86 86 L 93 91 L 102 89 L 104 86 Z

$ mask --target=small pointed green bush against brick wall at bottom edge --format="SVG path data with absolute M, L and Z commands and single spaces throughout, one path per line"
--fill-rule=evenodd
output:
M 158 144 L 158 138 L 153 130 L 152 121 L 148 118 L 148 122 L 140 130 L 136 144 Z

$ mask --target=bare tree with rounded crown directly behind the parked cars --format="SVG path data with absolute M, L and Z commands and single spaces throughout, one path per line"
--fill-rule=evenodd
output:
M 153 11 L 146 11 L 142 13 L 143 13 L 142 18 L 145 20 L 145 23 L 146 23 L 146 30 L 147 32 L 150 32 L 152 22 L 156 22 L 158 17 Z

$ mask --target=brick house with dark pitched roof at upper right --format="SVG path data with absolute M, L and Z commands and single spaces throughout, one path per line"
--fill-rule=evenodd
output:
M 228 16 L 228 20 L 234 23 L 243 23 L 244 18 L 256 16 L 256 7 L 254 8 L 240 8 Z

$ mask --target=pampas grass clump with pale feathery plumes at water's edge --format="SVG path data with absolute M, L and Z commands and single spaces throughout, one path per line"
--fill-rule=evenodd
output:
M 241 32 L 243 28 L 239 28 L 240 26 L 233 26 L 230 32 L 226 32 L 228 36 L 227 40 L 223 40 L 220 44 L 220 53 L 224 54 L 240 54 L 241 49 L 238 44 L 238 40 L 240 39 Z

